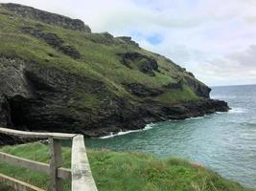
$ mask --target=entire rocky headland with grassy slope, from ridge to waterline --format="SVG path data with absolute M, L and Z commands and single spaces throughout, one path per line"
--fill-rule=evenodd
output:
M 227 111 L 170 59 L 82 21 L 0 6 L 0 125 L 99 137 Z

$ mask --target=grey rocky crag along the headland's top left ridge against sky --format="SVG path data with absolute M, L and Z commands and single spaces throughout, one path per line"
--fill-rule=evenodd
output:
M 22 16 L 24 18 L 38 20 L 47 24 L 57 25 L 69 30 L 76 30 L 82 32 L 91 32 L 90 28 L 79 19 L 71 19 L 66 16 L 62 16 L 59 14 L 36 10 L 31 7 L 22 6 L 18 4 L 1 4 L 8 11 L 12 11 L 12 13 L 16 16 Z

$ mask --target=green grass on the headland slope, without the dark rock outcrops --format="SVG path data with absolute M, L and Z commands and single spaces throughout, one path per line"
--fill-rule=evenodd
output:
M 1 12 L 8 11 L 0 7 L 0 54 L 34 60 L 43 67 L 61 68 L 69 74 L 75 73 L 100 79 L 105 82 L 112 92 L 119 96 L 127 96 L 136 100 L 142 99 L 130 95 L 122 83 L 141 83 L 150 88 L 161 88 L 163 85 L 174 83 L 182 76 L 188 75 L 185 71 L 179 71 L 175 64 L 168 62 L 165 57 L 139 49 L 122 39 L 112 38 L 112 42 L 107 43 L 105 40 L 108 38 L 104 33 L 65 30 L 35 20 L 20 17 L 12 19 L 9 15 L 1 14 Z M 35 27 L 36 24 L 43 26 L 44 32 L 57 33 L 65 41 L 65 44 L 75 47 L 81 53 L 81 59 L 74 60 L 47 45 L 43 40 L 20 30 L 24 26 Z M 117 53 L 127 52 L 137 52 L 153 57 L 158 62 L 160 73 L 149 76 L 139 72 L 139 70 L 128 69 L 120 63 L 121 58 L 117 55 Z M 48 53 L 55 56 L 50 56 Z M 189 94 L 187 94 L 188 92 Z M 165 96 L 169 96 L 169 98 L 166 99 Z M 156 97 L 155 100 L 175 103 L 180 100 L 198 99 L 198 96 L 186 85 L 184 90 L 178 93 L 170 91 L 165 96 Z M 88 97 L 88 95 L 84 95 L 84 97 Z M 81 99 L 79 105 L 98 106 L 100 101 L 96 99 L 100 99 L 100 97 L 92 96 L 90 99 L 92 101 L 85 104 L 82 104 Z

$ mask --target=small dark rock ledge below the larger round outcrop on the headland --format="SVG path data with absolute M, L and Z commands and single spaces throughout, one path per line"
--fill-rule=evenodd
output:
M 152 89 L 143 84 L 138 84 L 138 83 L 130 83 L 130 84 L 126 84 L 125 86 L 126 86 L 128 92 L 130 92 L 131 94 L 133 94 L 135 96 L 141 96 L 141 97 L 159 96 L 164 93 L 163 90 Z

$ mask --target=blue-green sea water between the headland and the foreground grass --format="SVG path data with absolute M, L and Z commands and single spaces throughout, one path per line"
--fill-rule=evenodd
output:
M 86 139 L 89 148 L 190 159 L 231 180 L 256 187 L 256 85 L 214 87 L 227 113 L 147 125 L 144 131 Z

